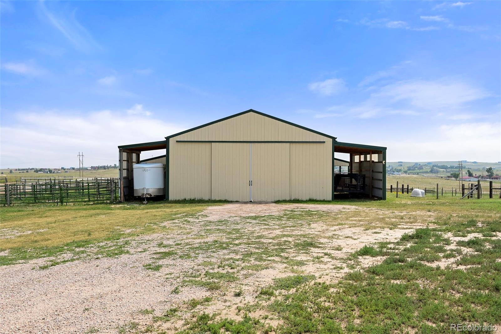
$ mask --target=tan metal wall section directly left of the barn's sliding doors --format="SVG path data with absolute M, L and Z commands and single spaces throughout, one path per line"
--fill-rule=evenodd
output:
M 169 199 L 210 199 L 210 143 L 170 144 Z M 175 158 L 172 158 L 172 157 Z M 150 162 L 150 161 L 148 161 Z

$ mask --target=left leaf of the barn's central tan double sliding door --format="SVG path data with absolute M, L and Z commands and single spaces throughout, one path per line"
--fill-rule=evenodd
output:
M 240 202 L 250 200 L 248 143 L 212 143 L 211 166 L 212 199 Z

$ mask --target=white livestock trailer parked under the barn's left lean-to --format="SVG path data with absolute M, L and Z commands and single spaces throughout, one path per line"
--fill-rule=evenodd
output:
M 134 196 L 165 195 L 165 167 L 163 163 L 136 163 L 134 173 Z

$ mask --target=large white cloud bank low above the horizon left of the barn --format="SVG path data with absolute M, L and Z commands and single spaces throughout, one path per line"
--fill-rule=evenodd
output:
M 129 110 L 137 110 L 134 106 Z M 142 106 L 139 108 L 142 110 Z M 118 145 L 163 140 L 185 129 L 161 119 L 127 111 L 19 111 L 15 125 L 2 124 L 2 168 L 61 167 L 78 165 L 83 151 L 86 165 L 113 164 Z M 164 150 L 165 152 L 165 150 Z M 151 156 L 144 152 L 142 156 Z M 156 155 L 164 154 L 162 152 Z

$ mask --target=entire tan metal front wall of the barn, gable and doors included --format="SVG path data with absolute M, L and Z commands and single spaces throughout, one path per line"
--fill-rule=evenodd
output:
M 280 164 L 280 169 L 283 170 L 284 165 L 290 163 L 289 186 L 283 182 L 287 177 L 284 173 L 275 174 L 272 177 L 267 176 L 267 173 L 275 173 L 273 170 L 265 172 L 266 169 L 263 169 L 263 172 L 260 172 L 263 175 L 263 180 L 268 180 L 266 182 L 270 185 L 273 178 L 280 178 L 274 182 L 284 185 L 284 188 L 278 189 L 272 185 L 263 194 L 260 194 L 258 190 L 258 195 L 267 201 L 283 199 L 287 192 L 289 192 L 289 196 L 286 198 L 291 199 L 331 199 L 332 139 L 253 112 L 210 124 L 169 139 L 169 199 L 207 198 L 207 189 L 210 189 L 211 199 L 249 201 L 250 158 L 248 143 L 182 143 L 176 142 L 177 140 L 325 141 L 325 143 L 311 144 L 284 143 L 290 145 L 290 153 L 287 160 L 284 151 L 280 150 L 280 154 L 284 153 L 283 157 L 286 159 Z M 189 145 L 201 144 L 212 147 L 210 164 L 207 167 L 208 158 L 203 155 L 202 161 L 199 162 L 200 165 L 196 168 L 190 167 L 190 169 L 196 170 L 197 175 L 203 174 L 204 177 L 199 177 L 197 180 L 190 179 L 189 173 L 183 175 L 185 173 L 183 166 L 187 163 L 186 158 L 183 157 L 184 149 L 189 151 Z M 253 143 L 253 146 L 257 144 Z M 259 144 L 273 145 L 274 143 Z M 271 148 L 266 148 L 267 152 L 263 154 L 273 155 L 271 151 L 268 151 L 269 149 L 271 150 Z M 196 154 L 194 152 L 188 153 L 190 156 Z M 246 165 L 244 161 L 247 161 Z M 181 177 L 178 174 L 181 174 Z M 207 175 L 209 175 L 208 181 L 204 179 Z M 185 187 L 190 190 L 184 190 L 181 184 L 176 183 L 176 179 L 183 180 Z M 200 183 L 202 181 L 203 183 Z M 198 187 L 200 190 L 197 193 Z

